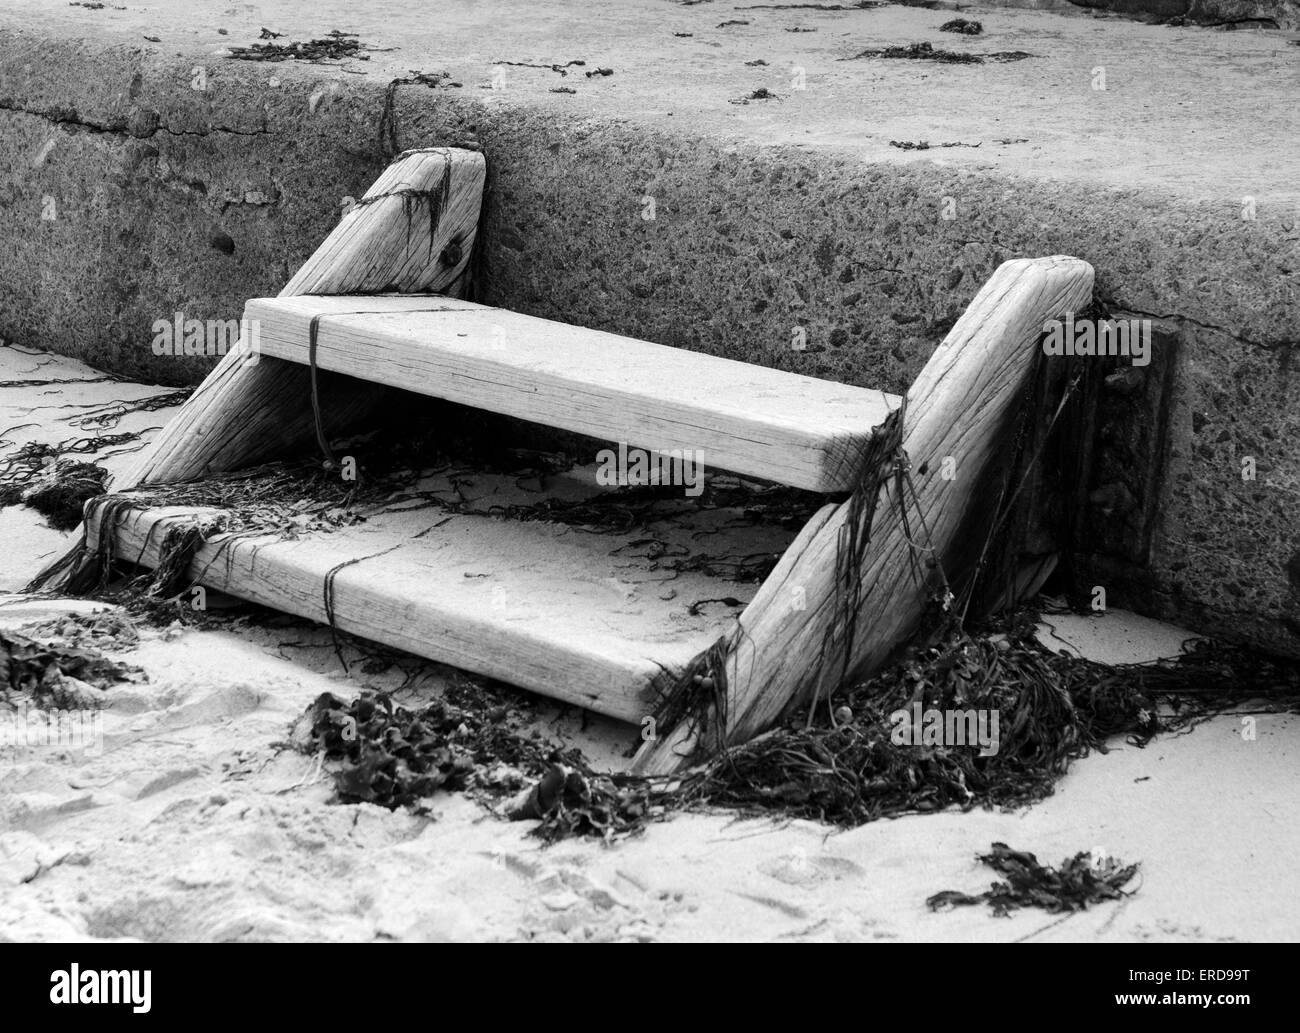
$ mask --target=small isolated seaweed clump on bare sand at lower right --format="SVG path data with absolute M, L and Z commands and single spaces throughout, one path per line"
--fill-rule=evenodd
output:
M 1118 900 L 1136 890 L 1124 886 L 1138 874 L 1139 865 L 1124 864 L 1117 858 L 1093 858 L 1091 852 L 1075 854 L 1061 861 L 1060 868 L 1039 864 L 1032 854 L 1011 850 L 1006 843 L 993 843 L 992 851 L 979 860 L 1006 881 L 993 882 L 984 893 L 971 895 L 959 890 L 942 890 L 926 900 L 931 911 L 987 903 L 998 917 L 1008 917 L 1022 907 L 1048 912 L 1084 911 L 1088 904 Z

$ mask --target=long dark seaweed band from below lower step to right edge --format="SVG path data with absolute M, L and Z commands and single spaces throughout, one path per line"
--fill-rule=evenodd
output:
M 396 807 L 420 798 L 416 784 L 432 791 L 482 791 L 498 802 L 508 798 L 506 810 L 515 817 L 537 819 L 534 834 L 549 842 L 630 835 L 685 808 L 854 826 L 950 806 L 1030 804 L 1052 794 L 1071 761 L 1104 752 L 1113 737 L 1144 746 L 1157 734 L 1186 730 L 1247 700 L 1268 711 L 1300 712 L 1300 664 L 1199 642 L 1169 660 L 1110 667 L 1053 654 L 1023 626 L 1006 638 L 961 635 L 842 693 L 835 700 L 836 716 L 827 708 L 811 726 L 790 721 L 676 777 L 594 772 L 576 750 L 538 741 L 520 715 L 528 706 L 520 699 L 507 689 L 465 680 L 447 700 L 417 713 L 372 699 L 382 711 L 377 717 L 380 712 L 360 699 L 346 704 L 332 696 L 315 704 L 315 737 L 304 748 L 325 748 L 337 761 L 343 800 Z M 975 745 L 896 745 L 890 715 L 911 703 L 997 708 L 1000 750 L 982 756 Z M 322 717 L 326 712 L 333 716 Z M 332 728 L 347 724 L 346 716 L 356 726 L 355 742 L 330 738 Z M 404 755 L 390 748 L 399 739 L 412 743 L 416 719 L 424 730 L 412 747 L 417 755 L 451 751 L 451 760 L 438 754 L 446 777 L 434 780 L 437 785 L 420 781 L 429 772 L 411 768 L 408 759 L 403 768 L 396 761 Z M 391 756 L 385 758 L 385 750 Z M 456 758 L 468 758 L 471 768 L 458 767 Z M 372 774 L 378 785 L 365 781 Z

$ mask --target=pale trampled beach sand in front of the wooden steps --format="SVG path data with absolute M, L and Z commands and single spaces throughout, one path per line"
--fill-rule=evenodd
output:
M 0 348 L 0 381 L 88 379 L 84 368 Z M 17 440 L 70 437 L 56 420 L 138 385 L 0 389 Z M 103 392 L 103 394 L 100 394 Z M 48 408 L 32 409 L 32 399 Z M 146 413 L 157 426 L 165 413 Z M 124 421 L 126 426 L 126 421 Z M 112 461 L 112 460 L 110 460 Z M 13 593 L 66 535 L 0 512 L 0 589 Z M 0 626 L 77 600 L 0 598 Z M 1110 660 L 1176 650 L 1180 629 L 1112 611 L 1057 616 L 1063 646 Z M 1046 631 L 1046 629 L 1045 629 Z M 328 631 L 283 619 L 234 630 L 155 629 L 122 659 L 101 751 L 0 748 L 0 938 L 196 941 L 1247 941 L 1300 938 L 1300 719 L 1225 715 L 1144 750 L 1076 763 L 1056 795 L 1011 812 L 954 811 L 841 832 L 811 821 L 681 815 L 607 847 L 543 847 L 464 797 L 432 816 L 330 802 L 286 743 L 321 691 L 399 678 L 344 676 Z M 408 702 L 448 676 L 425 665 Z M 634 729 L 538 703 L 545 734 L 625 764 Z M 983 908 L 931 913 L 942 889 L 978 891 L 993 841 L 1057 863 L 1104 848 L 1140 860 L 1139 891 L 1067 917 Z

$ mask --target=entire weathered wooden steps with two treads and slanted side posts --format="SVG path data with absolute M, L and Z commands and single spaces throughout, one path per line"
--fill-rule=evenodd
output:
M 801 505 L 811 517 L 779 538 L 744 511 L 685 531 L 688 555 L 701 542 L 779 554 L 757 591 L 693 581 L 688 565 L 677 595 L 660 598 L 633 583 L 654 580 L 650 554 L 618 569 L 645 542 L 673 539 L 672 528 L 633 528 L 611 547 L 606 535 L 456 507 L 441 522 L 378 512 L 296 541 L 214 538 L 188 577 L 602 713 L 651 717 L 636 760 L 646 773 L 701 761 L 824 699 L 879 667 L 936 602 L 953 603 L 950 586 L 982 568 L 994 538 L 1017 414 L 1037 363 L 1050 361 L 1044 325 L 1091 300 L 1087 262 L 1004 262 L 898 399 L 439 294 L 465 285 L 484 173 L 472 152 L 398 159 L 280 298 L 248 304 L 257 351 L 244 342 L 228 355 L 110 485 L 124 503 L 103 511 L 112 525 L 92 516 L 84 548 L 51 568 L 52 583 L 95 570 L 109 541 L 114 555 L 160 563 L 169 522 L 213 513 L 161 509 L 166 492 L 150 486 L 300 455 L 317 434 L 385 421 L 387 385 L 602 440 L 701 451 L 710 470 L 848 500 Z M 318 409 L 317 378 L 334 381 Z M 87 512 L 101 511 L 92 500 Z M 692 602 L 703 599 L 732 602 Z

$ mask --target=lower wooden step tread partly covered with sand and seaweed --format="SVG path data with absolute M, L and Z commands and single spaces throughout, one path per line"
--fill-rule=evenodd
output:
M 594 468 L 578 474 L 540 494 L 521 490 L 512 474 L 458 469 L 420 490 L 468 500 L 473 512 L 398 502 L 367 512 L 364 522 L 295 539 L 214 537 L 195 554 L 190 576 L 318 622 L 330 580 L 343 631 L 640 722 L 758 591 L 755 580 L 732 576 L 733 564 L 764 555 L 775 563 L 796 531 L 755 525 L 744 505 L 686 500 L 627 531 L 502 517 L 503 508 L 540 498 L 597 494 Z M 114 555 L 156 567 L 169 526 L 221 515 L 126 511 L 113 528 Z M 95 515 L 88 531 L 100 534 Z M 698 563 L 706 554 L 710 561 Z

